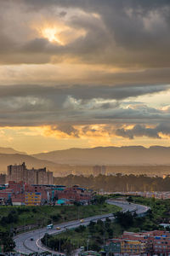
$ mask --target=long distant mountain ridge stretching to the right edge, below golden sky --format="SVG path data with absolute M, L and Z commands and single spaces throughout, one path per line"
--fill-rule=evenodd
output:
M 33 156 L 70 165 L 170 165 L 170 148 L 160 146 L 71 148 Z

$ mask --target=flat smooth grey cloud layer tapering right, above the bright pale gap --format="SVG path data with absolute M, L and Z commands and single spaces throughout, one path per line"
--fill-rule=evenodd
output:
M 40 86 L 40 85 L 8 85 L 0 86 L 0 98 L 4 97 L 39 97 L 40 99 L 54 100 L 59 97 L 62 101 L 65 97 L 72 97 L 77 100 L 90 100 L 94 98 L 122 100 L 128 97 L 142 96 L 159 93 L 170 89 L 169 85 L 148 85 L 148 86 L 107 86 L 107 85 L 72 85 L 72 86 Z M 58 100 L 59 100 L 58 98 Z M 60 102 L 59 102 L 60 103 Z

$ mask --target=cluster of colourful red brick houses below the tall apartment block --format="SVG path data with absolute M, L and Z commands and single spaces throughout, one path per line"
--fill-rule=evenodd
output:
M 48 172 L 47 172 L 48 173 Z M 93 199 L 93 191 L 73 186 L 28 184 L 23 181 L 9 181 L 0 187 L 1 205 L 39 206 L 44 204 L 70 205 L 75 201 L 82 205 Z

